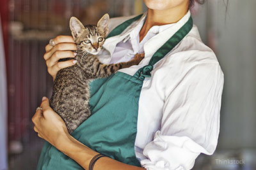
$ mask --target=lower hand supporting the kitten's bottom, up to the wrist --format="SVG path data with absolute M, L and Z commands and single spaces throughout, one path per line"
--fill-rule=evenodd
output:
M 47 97 L 42 98 L 40 108 L 42 110 L 36 110 L 32 118 L 32 122 L 35 124 L 34 131 L 51 145 L 58 146 L 58 142 L 61 141 L 60 138 L 69 135 L 67 126 L 62 118 L 52 110 Z

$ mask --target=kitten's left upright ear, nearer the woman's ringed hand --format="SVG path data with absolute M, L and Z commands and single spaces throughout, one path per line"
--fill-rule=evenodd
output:
M 71 34 L 76 41 L 76 39 L 79 38 L 79 36 L 83 32 L 84 25 L 76 17 L 71 17 L 69 21 L 69 27 Z

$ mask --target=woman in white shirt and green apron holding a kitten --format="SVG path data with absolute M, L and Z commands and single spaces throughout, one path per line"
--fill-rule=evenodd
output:
M 138 66 L 122 69 L 116 73 L 118 77 L 113 76 L 120 82 L 116 87 L 121 87 L 116 88 L 121 89 L 116 93 L 124 101 L 111 98 L 114 105 L 108 109 L 102 107 L 102 113 L 97 111 L 88 118 L 72 134 L 75 139 L 50 108 L 49 100 L 43 97 L 42 110 L 37 110 L 33 117 L 34 129 L 60 152 L 51 145 L 45 146 L 38 169 L 92 169 L 93 166 L 99 170 L 191 169 L 200 153 L 214 152 L 219 134 L 223 73 L 216 56 L 202 43 L 192 24 L 188 9 L 193 0 L 144 2 L 147 13 L 129 18 L 124 23 L 127 29 L 110 33 L 99 56 L 102 62 L 110 63 L 145 53 Z M 124 21 L 124 18 L 111 20 L 110 29 Z M 58 62 L 60 58 L 74 57 L 72 50 L 76 50 L 76 45 L 70 36 L 58 36 L 54 43 L 54 47 L 45 47 L 44 55 L 53 79 L 61 68 L 76 64 L 74 60 Z M 109 90 L 106 88 L 100 95 L 106 92 L 108 96 Z M 132 103 L 134 100 L 138 101 Z M 118 110 L 113 108 L 119 106 L 115 103 L 120 104 L 122 111 L 127 110 L 120 118 L 115 115 Z M 108 104 L 106 101 L 102 106 Z M 113 115 L 104 117 L 109 110 Z M 114 130 L 109 131 L 112 126 Z M 99 152 L 108 157 L 98 155 Z

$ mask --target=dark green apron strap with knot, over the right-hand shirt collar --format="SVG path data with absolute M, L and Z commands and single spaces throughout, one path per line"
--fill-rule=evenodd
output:
M 151 57 L 147 66 L 141 67 L 135 74 L 137 78 L 140 80 L 144 80 L 145 77 L 150 77 L 150 72 L 153 70 L 154 64 L 156 64 L 159 60 L 163 59 L 163 57 L 170 52 L 180 41 L 191 31 L 193 27 L 193 19 L 192 17 L 184 24 L 179 31 L 177 31 L 163 46 L 161 46 L 156 53 Z

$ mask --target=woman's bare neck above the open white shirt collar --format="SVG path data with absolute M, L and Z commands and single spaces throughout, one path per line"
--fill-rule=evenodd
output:
M 188 12 L 188 4 L 181 4 L 168 10 L 152 10 L 148 8 L 147 18 L 140 31 L 140 41 L 154 25 L 165 25 L 178 22 Z

